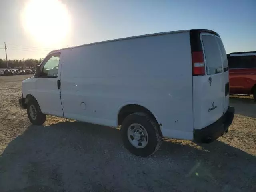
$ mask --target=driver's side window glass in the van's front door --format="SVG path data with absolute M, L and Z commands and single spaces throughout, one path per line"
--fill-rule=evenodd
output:
M 58 77 L 60 54 L 52 55 L 43 66 L 41 76 Z

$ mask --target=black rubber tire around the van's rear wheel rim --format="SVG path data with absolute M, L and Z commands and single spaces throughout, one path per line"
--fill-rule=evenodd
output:
M 129 141 L 127 133 L 128 128 L 132 124 L 140 124 L 146 129 L 148 143 L 144 148 L 136 148 Z M 121 134 L 125 148 L 136 156 L 150 156 L 156 152 L 162 144 L 162 136 L 158 123 L 147 114 L 141 112 L 130 114 L 124 119 L 121 126 Z

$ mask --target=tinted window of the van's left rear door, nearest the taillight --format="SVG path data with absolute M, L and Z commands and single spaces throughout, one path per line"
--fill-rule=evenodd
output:
M 216 38 L 212 35 L 203 35 L 204 56 L 208 75 L 222 72 L 222 58 Z

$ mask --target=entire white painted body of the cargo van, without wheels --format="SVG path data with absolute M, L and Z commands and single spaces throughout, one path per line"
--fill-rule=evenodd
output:
M 228 66 L 216 33 L 198 32 L 197 37 L 190 37 L 190 32 L 164 32 L 50 52 L 49 57 L 58 54 L 58 70 L 46 68 L 46 74 L 54 69 L 58 76 L 24 80 L 22 100 L 32 95 L 44 114 L 105 126 L 117 126 L 120 110 L 136 104 L 154 115 L 162 136 L 193 140 L 195 132 L 227 111 L 225 85 L 229 80 L 228 71 L 208 74 L 209 63 L 221 65 L 222 70 Z M 218 47 L 210 60 L 203 36 L 214 38 L 208 44 L 210 53 L 212 44 Z M 193 76 L 191 48 L 203 52 L 205 75 Z M 218 62 L 212 62 L 215 56 Z

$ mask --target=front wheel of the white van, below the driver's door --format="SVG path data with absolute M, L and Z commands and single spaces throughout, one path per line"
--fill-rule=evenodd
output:
M 30 107 L 36 113 L 30 114 Z M 34 98 L 28 101 L 27 114 L 30 122 L 34 125 L 42 125 L 46 120 L 46 115 L 41 112 L 40 106 Z

